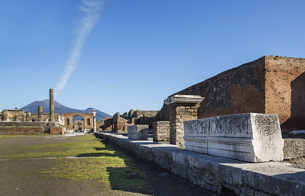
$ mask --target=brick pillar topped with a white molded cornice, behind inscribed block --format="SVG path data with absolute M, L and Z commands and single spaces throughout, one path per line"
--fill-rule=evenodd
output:
M 183 121 L 197 119 L 197 108 L 203 99 L 197 95 L 174 95 L 164 100 L 169 105 L 170 144 L 185 146 Z

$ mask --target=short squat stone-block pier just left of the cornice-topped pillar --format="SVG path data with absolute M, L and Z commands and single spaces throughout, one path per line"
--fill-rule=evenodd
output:
M 169 121 L 158 121 L 158 122 L 152 123 L 152 140 L 154 142 L 170 140 L 170 122 Z

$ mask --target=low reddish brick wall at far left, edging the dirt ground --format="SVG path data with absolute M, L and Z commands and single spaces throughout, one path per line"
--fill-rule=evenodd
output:
M 43 127 L 0 127 L 0 135 L 40 135 Z

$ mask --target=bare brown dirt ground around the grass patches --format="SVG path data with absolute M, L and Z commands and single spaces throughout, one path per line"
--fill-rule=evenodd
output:
M 18 147 L 23 145 L 85 141 L 73 140 L 76 137 L 81 136 L 65 137 L 66 139 L 46 138 L 45 136 L 0 138 L 0 145 L 2 145 L 0 152 L 11 151 L 16 153 Z M 116 148 L 124 151 L 124 149 Z M 136 190 L 132 189 L 132 187 L 128 191 L 120 190 L 116 187 L 105 188 L 100 183 L 90 179 L 83 182 L 75 182 L 59 180 L 52 176 L 41 178 L 37 175 L 37 172 L 51 167 L 51 158 L 4 158 L 0 160 L 0 195 L 218 195 L 195 186 L 188 180 L 174 176 L 170 172 L 138 158 L 135 154 L 130 154 L 126 151 L 124 153 L 133 158 L 138 168 L 149 176 L 147 182 L 150 184 L 150 191 Z M 139 177 L 133 176 L 133 178 L 138 179 Z

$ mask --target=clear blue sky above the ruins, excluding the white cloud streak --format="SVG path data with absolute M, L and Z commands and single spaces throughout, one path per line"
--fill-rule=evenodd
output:
M 83 13 L 81 0 L 0 1 L 0 110 L 48 99 Z M 109 0 L 55 100 L 113 115 L 265 55 L 305 58 L 305 1 Z

